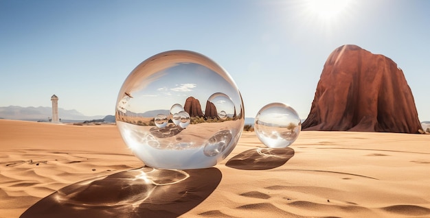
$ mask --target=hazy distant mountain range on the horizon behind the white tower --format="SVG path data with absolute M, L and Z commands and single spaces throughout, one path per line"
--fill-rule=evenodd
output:
M 74 121 L 89 121 L 95 119 L 104 119 L 105 116 L 85 116 L 78 110 L 65 110 L 58 108 L 58 114 L 64 123 Z M 8 106 L 0 107 L 0 119 L 14 119 L 22 121 L 48 121 L 52 117 L 51 107 L 21 107 Z

